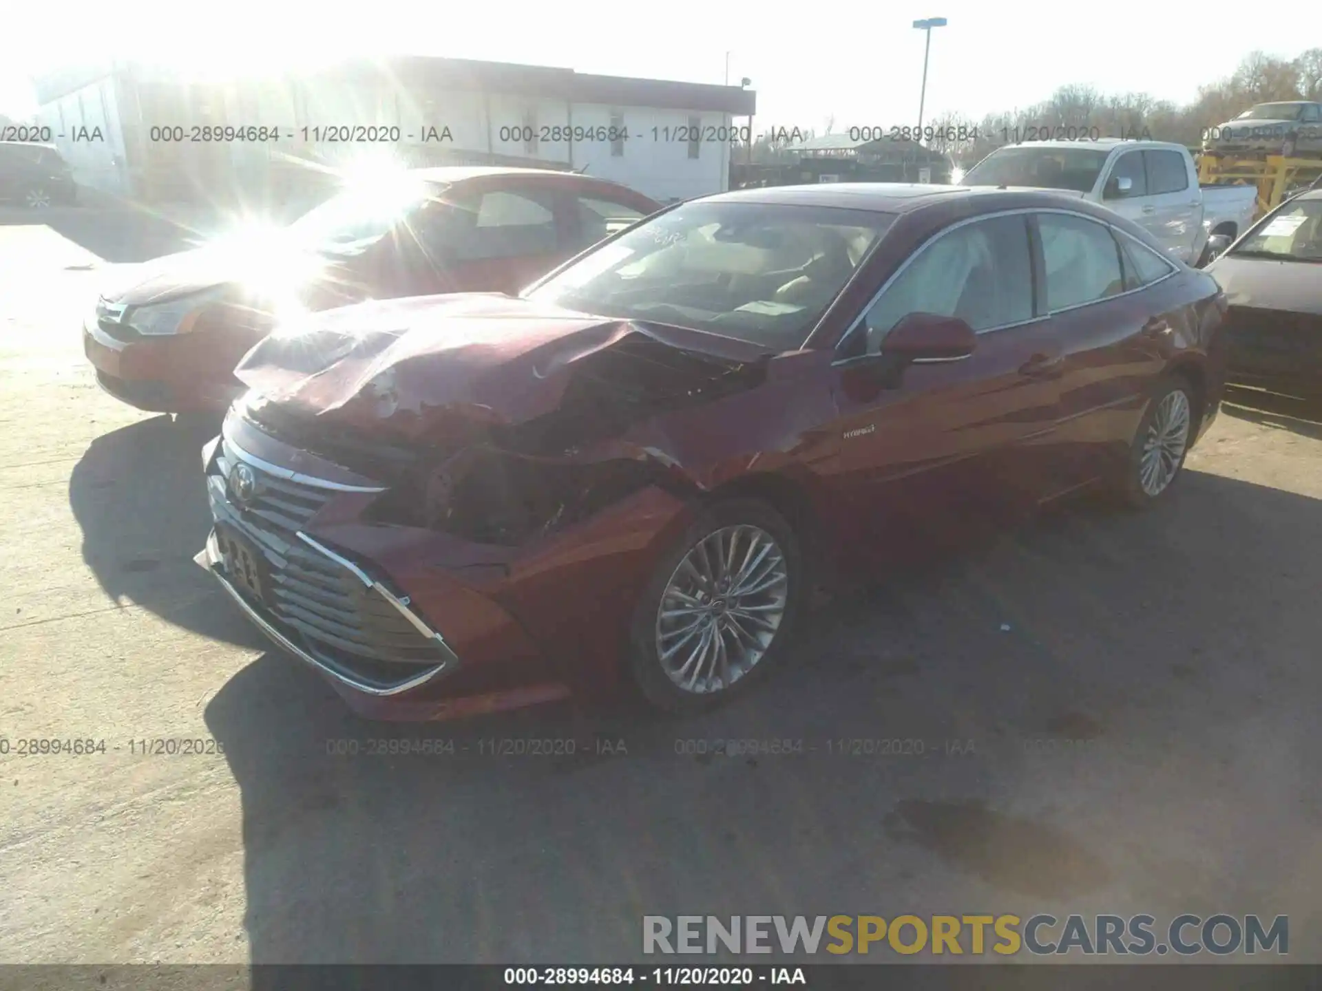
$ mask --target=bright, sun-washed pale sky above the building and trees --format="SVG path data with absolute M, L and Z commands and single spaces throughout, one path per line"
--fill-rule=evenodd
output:
M 916 123 L 923 32 L 912 21 L 920 17 L 949 21 L 932 32 L 928 120 L 1025 107 L 1067 83 L 1185 103 L 1255 49 L 1294 57 L 1322 44 L 1322 4 L 1293 7 L 1288 32 L 1280 18 L 1188 4 L 1146 4 L 1141 17 L 1110 17 L 1110 8 L 1088 4 L 986 0 L 488 0 L 446 8 L 229 0 L 204 16 L 200 7 L 160 0 L 67 0 L 53 29 L 48 8 L 17 4 L 5 29 L 22 44 L 7 46 L 0 61 L 0 114 L 33 110 L 32 73 L 111 53 L 202 74 L 432 54 L 720 83 L 728 52 L 731 82 L 748 77 L 758 92 L 755 131 L 821 133 L 829 118 L 837 131 Z

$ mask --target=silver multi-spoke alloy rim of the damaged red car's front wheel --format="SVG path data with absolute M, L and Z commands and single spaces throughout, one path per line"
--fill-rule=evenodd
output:
M 789 600 L 785 552 L 765 530 L 738 525 L 695 543 L 661 595 L 656 650 L 687 692 L 728 688 L 765 657 Z

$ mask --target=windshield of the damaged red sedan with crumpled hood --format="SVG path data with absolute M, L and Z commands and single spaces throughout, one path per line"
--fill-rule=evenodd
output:
M 894 219 L 698 201 L 603 244 L 527 297 L 793 350 Z

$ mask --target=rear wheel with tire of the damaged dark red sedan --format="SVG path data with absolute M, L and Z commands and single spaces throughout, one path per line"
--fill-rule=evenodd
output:
M 1144 510 L 1170 493 L 1185 468 L 1200 416 L 1188 379 L 1169 375 L 1158 383 L 1129 444 L 1124 477 L 1116 486 L 1122 505 Z M 1155 462 L 1151 449 L 1163 449 L 1155 455 Z

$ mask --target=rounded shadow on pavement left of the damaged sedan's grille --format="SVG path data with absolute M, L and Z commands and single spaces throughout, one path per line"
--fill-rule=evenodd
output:
M 103 433 L 74 465 L 69 506 L 83 560 L 107 596 L 205 637 L 260 647 L 267 641 L 193 563 L 212 525 L 201 449 L 218 432 L 218 418 L 163 415 Z

